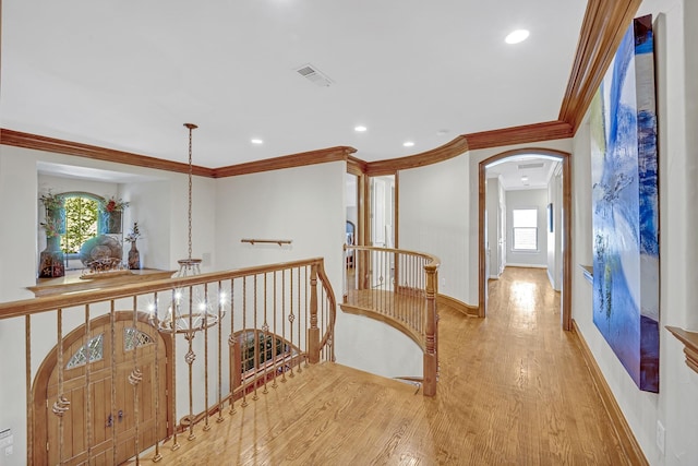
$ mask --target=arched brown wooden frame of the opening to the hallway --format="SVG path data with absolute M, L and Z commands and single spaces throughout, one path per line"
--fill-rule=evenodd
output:
M 568 152 L 556 151 L 551 148 L 517 148 L 513 151 L 505 151 L 503 153 L 493 155 L 480 162 L 478 166 L 478 260 L 479 260 L 479 277 L 478 277 L 478 315 L 485 316 L 486 302 L 485 292 L 488 286 L 488 277 L 485 276 L 485 225 L 484 225 L 484 212 L 485 212 L 485 198 L 486 198 L 486 166 L 512 156 L 516 155 L 543 155 L 553 156 L 559 158 L 563 165 L 563 240 L 562 240 L 562 253 L 563 253 L 563 302 L 562 302 L 562 327 L 565 331 L 570 331 L 571 326 L 571 154 Z

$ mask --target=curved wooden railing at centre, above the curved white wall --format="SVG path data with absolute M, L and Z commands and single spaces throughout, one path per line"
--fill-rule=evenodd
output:
M 399 249 L 345 247 L 342 310 L 377 319 L 424 353 L 423 393 L 436 394 L 438 259 Z

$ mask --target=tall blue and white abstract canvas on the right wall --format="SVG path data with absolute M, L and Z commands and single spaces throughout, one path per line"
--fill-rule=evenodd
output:
M 591 108 L 593 322 L 659 392 L 659 191 L 652 17 L 636 19 Z

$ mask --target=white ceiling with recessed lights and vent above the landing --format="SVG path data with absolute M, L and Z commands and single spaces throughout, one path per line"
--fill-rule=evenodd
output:
M 193 122 L 210 168 L 338 145 L 418 154 L 556 120 L 586 4 L 4 0 L 0 126 L 186 162 Z M 530 38 L 505 44 L 515 28 Z M 334 84 L 300 76 L 306 63 Z

